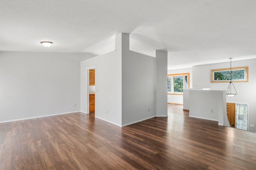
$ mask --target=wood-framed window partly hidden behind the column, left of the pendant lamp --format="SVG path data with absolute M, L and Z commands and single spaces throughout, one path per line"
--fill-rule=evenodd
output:
M 189 73 L 168 74 L 167 92 L 173 95 L 182 95 L 183 88 L 189 88 Z

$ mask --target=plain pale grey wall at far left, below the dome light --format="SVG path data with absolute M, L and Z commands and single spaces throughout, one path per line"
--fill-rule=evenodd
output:
M 0 51 L 0 122 L 80 111 L 80 61 L 92 56 Z

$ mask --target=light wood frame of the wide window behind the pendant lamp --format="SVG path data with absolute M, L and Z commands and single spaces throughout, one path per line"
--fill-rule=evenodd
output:
M 248 73 L 248 66 L 247 67 L 234 67 L 231 68 L 231 71 L 238 71 L 238 70 L 244 70 L 244 80 L 233 80 L 233 82 L 248 82 L 249 79 L 249 73 Z M 214 73 L 218 71 L 230 71 L 230 68 L 225 69 L 211 69 L 211 83 L 229 83 L 230 80 L 214 80 Z

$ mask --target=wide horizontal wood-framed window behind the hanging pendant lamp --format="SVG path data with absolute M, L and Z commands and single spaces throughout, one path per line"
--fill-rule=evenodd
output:
M 230 82 L 230 69 L 213 69 L 211 70 L 211 83 Z M 232 81 L 248 82 L 248 67 L 232 68 Z

